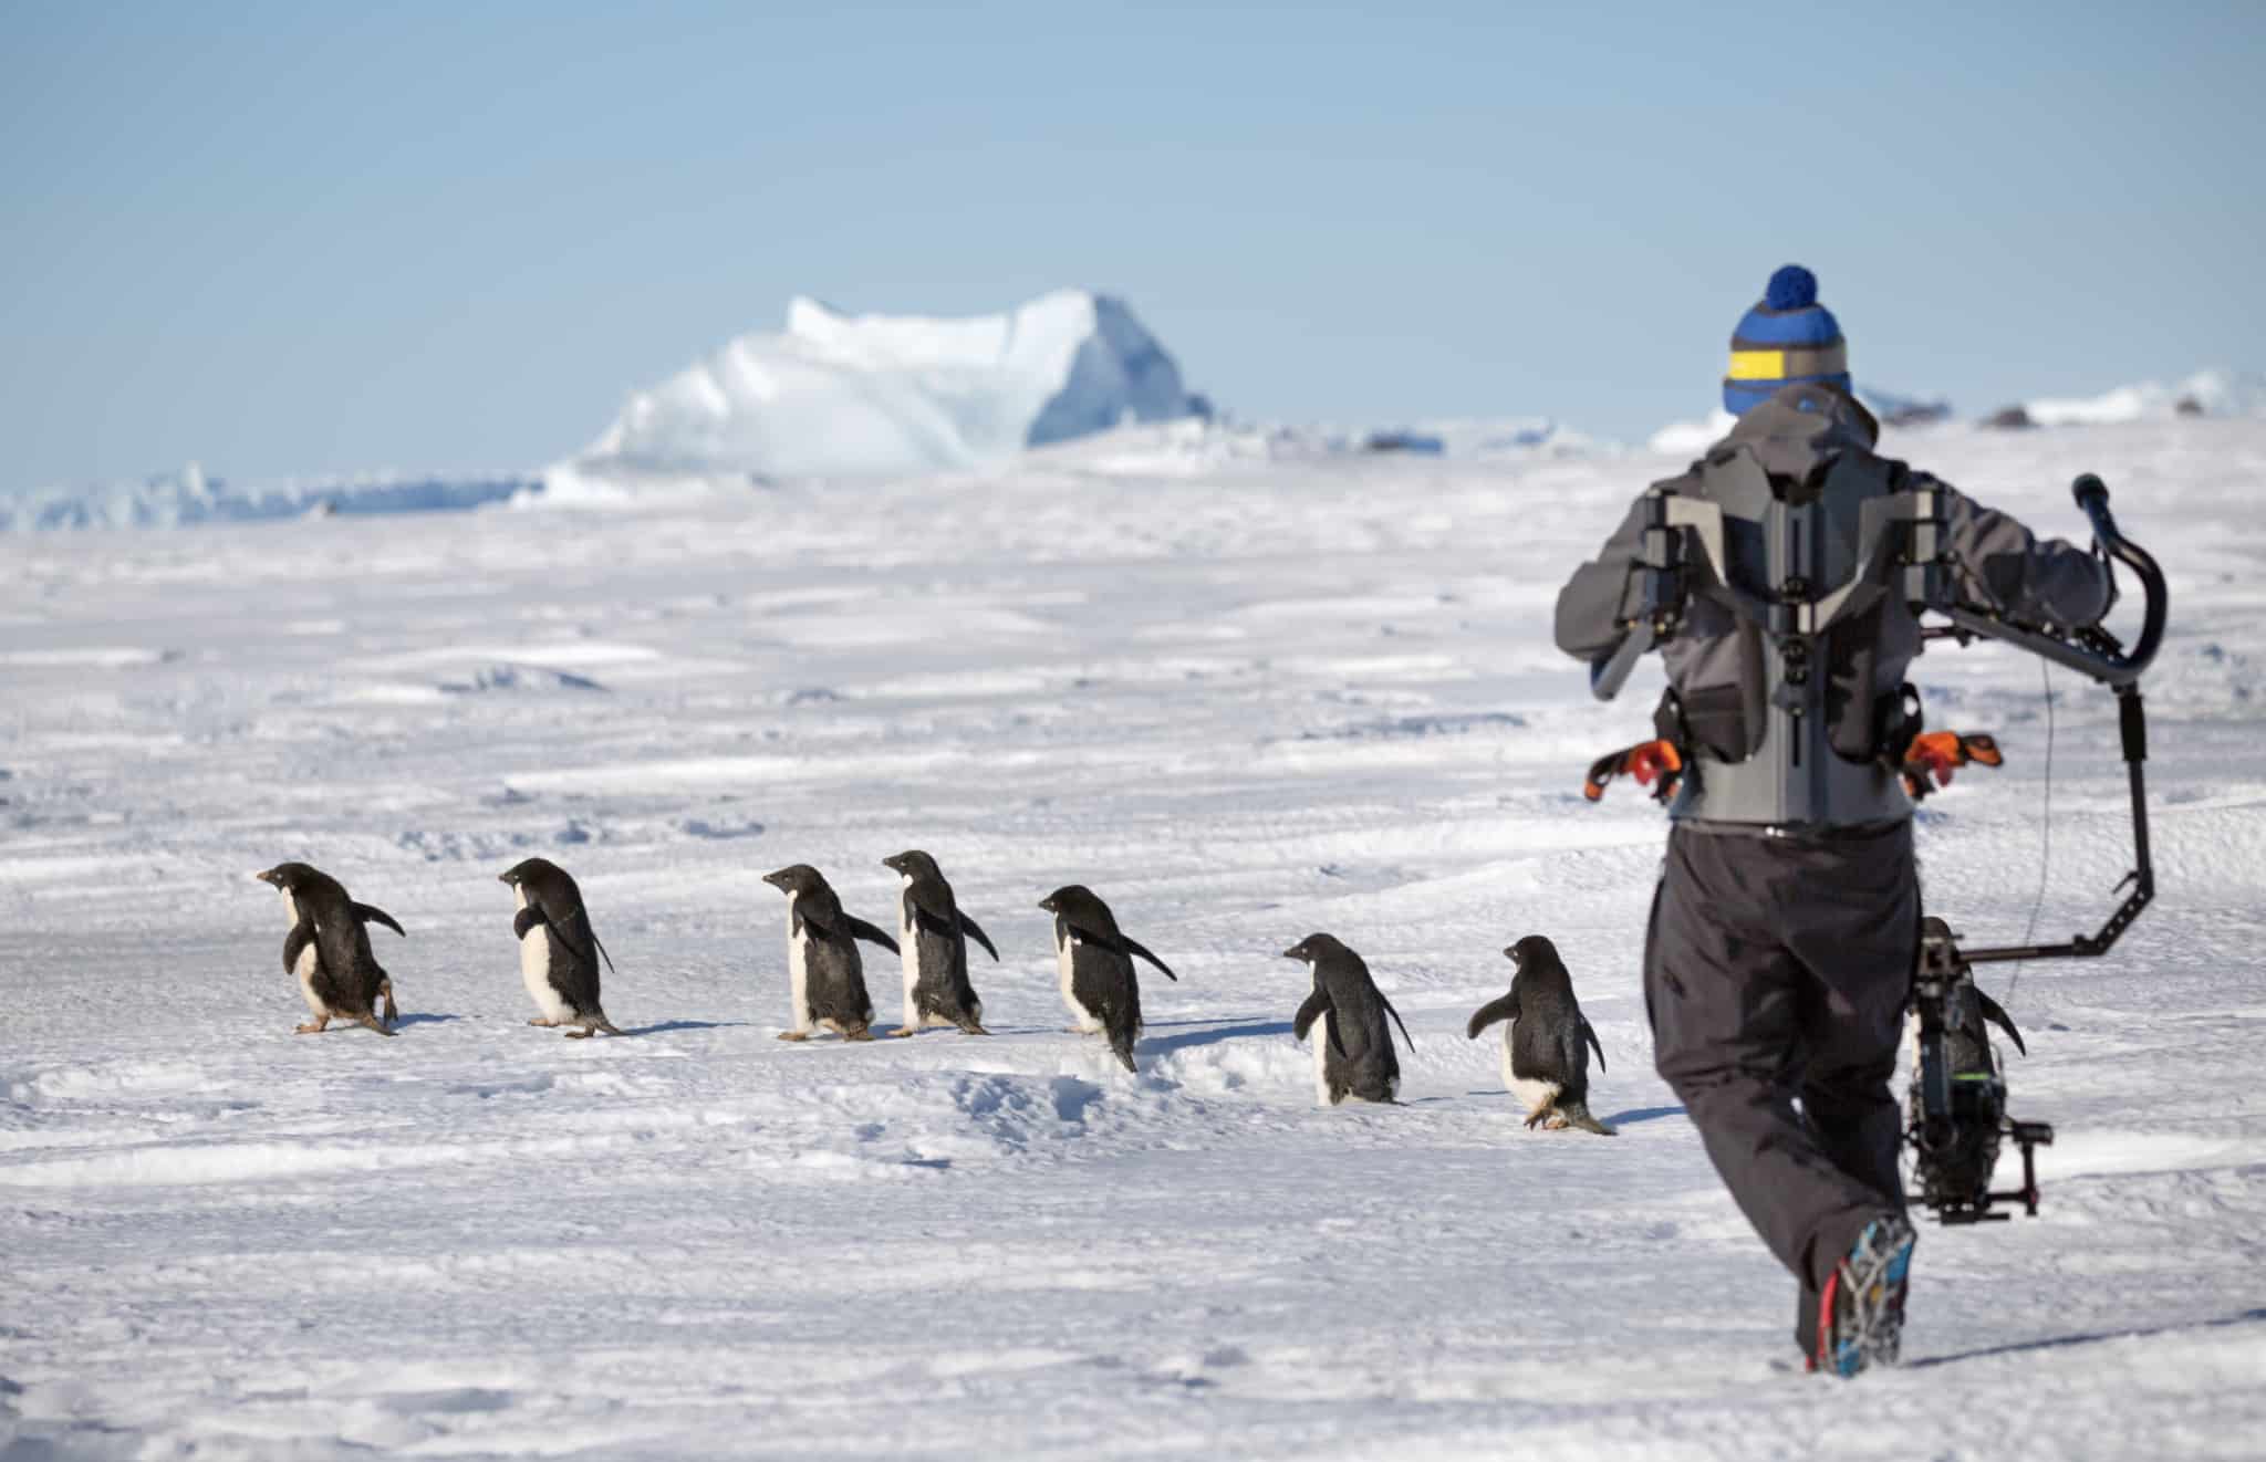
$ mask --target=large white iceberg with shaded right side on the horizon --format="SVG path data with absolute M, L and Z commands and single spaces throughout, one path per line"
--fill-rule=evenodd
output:
M 630 396 L 555 487 L 591 478 L 857 478 L 997 466 L 1122 421 L 1201 416 L 1122 301 L 1056 290 L 1020 310 L 845 315 L 811 299 Z

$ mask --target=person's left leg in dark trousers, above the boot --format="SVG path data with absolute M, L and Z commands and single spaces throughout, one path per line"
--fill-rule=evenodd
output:
M 1783 840 L 1675 828 L 1645 951 L 1654 1064 L 1747 1222 L 1808 1281 L 1820 1233 L 1901 1206 L 1833 1161 L 1795 1111 L 1808 971 L 1777 930 L 1804 889 Z M 1856 1222 L 1863 1229 L 1863 1222 Z M 1838 1258 L 1838 1254 L 1833 1256 Z M 1826 1261 L 1831 1270 L 1831 1261 Z

